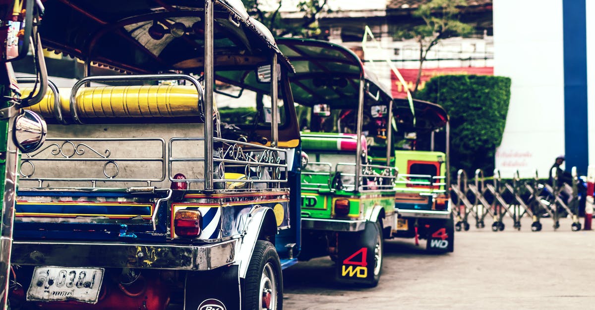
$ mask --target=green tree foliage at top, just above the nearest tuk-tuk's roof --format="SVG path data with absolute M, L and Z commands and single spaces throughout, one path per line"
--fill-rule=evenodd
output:
M 283 0 L 245 0 L 248 13 L 267 26 L 275 36 L 312 37 L 320 34 L 318 15 L 327 10 L 328 0 L 302 0 L 297 10 L 303 14 L 297 24 L 289 24 L 281 18 Z M 271 9 L 272 8 L 272 9 Z

